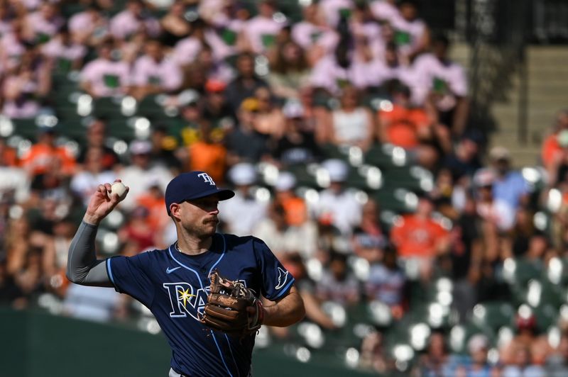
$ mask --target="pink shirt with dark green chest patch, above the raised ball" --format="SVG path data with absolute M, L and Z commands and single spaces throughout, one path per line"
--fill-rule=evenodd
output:
M 126 93 L 129 85 L 130 69 L 125 62 L 97 59 L 89 62 L 82 72 L 81 81 L 92 85 L 92 92 L 97 97 L 108 97 Z

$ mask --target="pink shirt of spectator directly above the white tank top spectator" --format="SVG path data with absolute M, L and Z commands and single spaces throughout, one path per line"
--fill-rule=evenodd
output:
M 310 82 L 316 88 L 327 89 L 332 94 L 339 94 L 342 84 L 351 83 L 358 89 L 372 85 L 371 72 L 363 62 L 354 59 L 347 69 L 340 67 L 333 56 L 323 57 L 312 69 Z

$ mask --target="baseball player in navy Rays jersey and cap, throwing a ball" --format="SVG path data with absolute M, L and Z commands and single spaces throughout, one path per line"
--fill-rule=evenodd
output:
M 111 184 L 101 184 L 90 199 L 70 246 L 70 281 L 114 287 L 146 305 L 172 349 L 170 377 L 250 376 L 256 329 L 292 325 L 305 312 L 293 276 L 263 241 L 216 232 L 217 204 L 234 192 L 217 188 L 203 171 L 176 176 L 165 190 L 165 205 L 178 241 L 135 257 L 101 260 L 94 247 L 97 225 L 124 199 L 110 191 Z M 234 291 L 252 293 L 253 300 L 224 308 L 228 300 L 212 291 L 211 276 L 217 274 L 224 276 L 216 278 L 219 286 L 236 286 Z M 271 305 L 260 305 L 261 295 Z

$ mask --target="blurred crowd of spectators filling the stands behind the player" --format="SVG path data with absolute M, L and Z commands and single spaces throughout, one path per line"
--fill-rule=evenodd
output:
M 337 313 L 371 308 L 357 367 L 565 376 L 568 113 L 557 115 L 540 165 L 516 170 L 505 147 L 487 150 L 486 135 L 468 124 L 466 72 L 449 58 L 447 36 L 420 18 L 419 1 L 299 1 L 295 13 L 289 5 L 0 0 L 0 302 L 55 303 L 94 320 L 135 315 L 141 309 L 118 293 L 65 278 L 89 196 L 117 178 L 130 187 L 99 230 L 101 254 L 161 249 L 175 241 L 166 184 L 204 170 L 236 191 L 219 204 L 219 231 L 271 247 L 297 280 L 306 322 L 341 343 Z M 17 135 L 18 120 L 59 116 L 53 72 L 74 74 L 95 103 L 157 99 L 179 122 L 155 118 L 124 148 L 104 114 L 77 124 L 86 137 L 75 147 L 58 124 L 40 121 L 31 140 L 13 142 L 6 121 Z M 432 177 L 407 192 L 405 210 L 384 210 L 392 203 L 373 195 L 380 185 L 352 185 L 361 158 L 386 146 L 390 167 Z M 546 290 L 546 279 L 563 297 L 550 303 L 555 332 L 529 295 L 535 282 Z M 446 294 L 431 299 L 436 289 Z M 410 340 L 389 330 L 432 303 L 447 321 L 422 315 L 427 329 Z M 484 303 L 510 303 L 509 332 L 481 323 Z M 410 356 L 397 348 L 405 342 Z

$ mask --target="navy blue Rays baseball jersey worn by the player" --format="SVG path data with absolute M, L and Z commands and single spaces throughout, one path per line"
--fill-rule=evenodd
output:
M 146 305 L 172 348 L 171 367 L 187 376 L 248 376 L 254 335 L 214 332 L 200 322 L 213 269 L 243 281 L 257 295 L 278 300 L 290 291 L 293 276 L 256 237 L 215 234 L 209 251 L 187 255 L 176 245 L 136 257 L 107 259 L 116 291 Z

